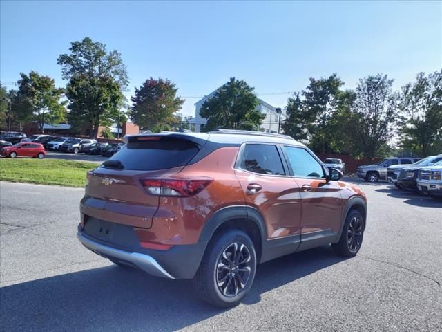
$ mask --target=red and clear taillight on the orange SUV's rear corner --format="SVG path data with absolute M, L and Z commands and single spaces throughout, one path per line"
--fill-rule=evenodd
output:
M 202 192 L 213 178 L 142 178 L 144 189 L 155 196 L 188 197 Z

